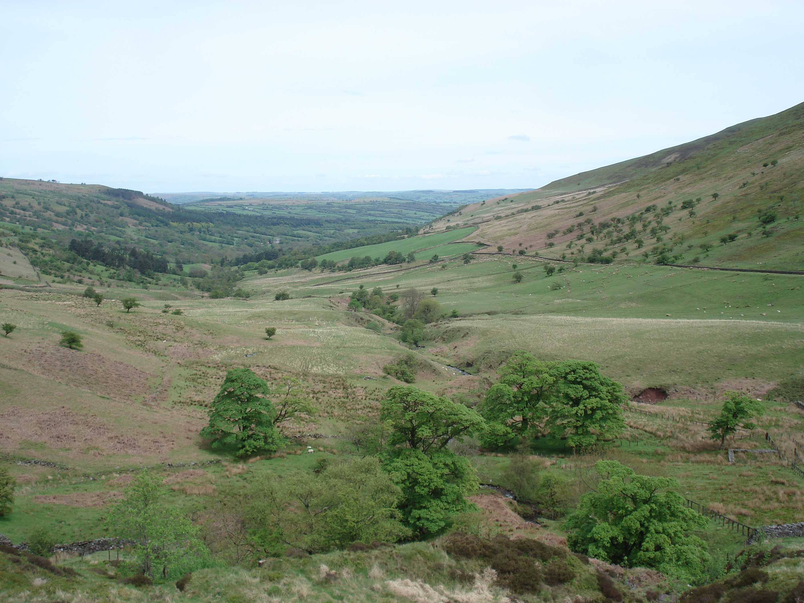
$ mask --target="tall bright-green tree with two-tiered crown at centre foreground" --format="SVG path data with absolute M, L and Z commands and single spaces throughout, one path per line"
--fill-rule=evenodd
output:
M 478 412 L 412 386 L 395 386 L 380 406 L 388 424 L 383 468 L 400 486 L 400 511 L 412 530 L 433 534 L 451 515 L 470 508 L 466 494 L 478 487 L 470 462 L 447 448 L 450 440 L 480 433 Z

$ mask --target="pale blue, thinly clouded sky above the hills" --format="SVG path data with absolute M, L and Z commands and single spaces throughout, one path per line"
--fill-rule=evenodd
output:
M 804 101 L 804 2 L 0 0 L 0 176 L 540 187 Z

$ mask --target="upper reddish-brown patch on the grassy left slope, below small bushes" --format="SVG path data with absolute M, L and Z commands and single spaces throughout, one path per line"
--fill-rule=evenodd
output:
M 100 354 L 59 346 L 25 349 L 18 358 L 34 375 L 114 400 L 144 398 L 150 391 L 149 379 L 156 376 Z

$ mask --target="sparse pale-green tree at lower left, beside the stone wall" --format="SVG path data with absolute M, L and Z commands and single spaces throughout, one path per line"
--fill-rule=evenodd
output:
M 106 525 L 121 538 L 134 541 L 133 553 L 151 578 L 175 579 L 203 567 L 208 551 L 199 528 L 174 506 L 162 503 L 162 476 L 144 471 L 125 488 Z

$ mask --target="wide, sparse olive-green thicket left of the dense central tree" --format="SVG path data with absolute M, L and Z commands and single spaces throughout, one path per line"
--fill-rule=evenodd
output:
M 354 542 L 395 542 L 410 534 L 396 509 L 401 496 L 376 457 L 327 466 L 319 475 L 269 472 L 249 489 L 245 524 L 252 542 L 269 555 L 281 555 L 288 545 L 313 553 Z

